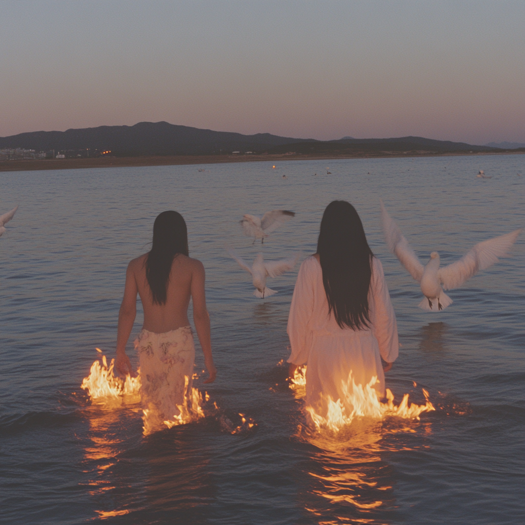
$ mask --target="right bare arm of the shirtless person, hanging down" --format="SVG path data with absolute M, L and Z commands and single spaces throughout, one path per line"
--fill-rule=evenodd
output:
M 193 321 L 197 329 L 198 340 L 201 342 L 204 353 L 204 364 L 208 371 L 208 379 L 204 383 L 213 383 L 217 376 L 217 369 L 213 364 L 212 340 L 209 328 L 209 314 L 206 309 L 206 292 L 204 290 L 205 281 L 204 266 L 201 261 L 195 261 L 192 274 L 192 300 L 193 300 Z

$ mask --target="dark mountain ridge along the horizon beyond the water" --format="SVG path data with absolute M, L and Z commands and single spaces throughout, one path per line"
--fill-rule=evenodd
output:
M 115 156 L 216 155 L 232 152 L 297 153 L 315 155 L 443 154 L 448 152 L 503 151 L 491 146 L 439 141 L 423 137 L 333 141 L 294 139 L 270 133 L 243 135 L 203 130 L 168 122 L 139 122 L 133 126 L 99 126 L 67 131 L 35 131 L 0 138 L 0 149 L 65 152 L 79 156 L 111 151 Z M 69 153 L 67 153 L 69 152 Z M 97 153 L 98 152 L 98 153 Z

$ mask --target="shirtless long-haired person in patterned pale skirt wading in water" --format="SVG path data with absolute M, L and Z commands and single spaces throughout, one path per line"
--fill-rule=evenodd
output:
M 209 374 L 204 383 L 215 381 L 204 279 L 202 262 L 188 257 L 182 215 L 162 212 L 153 225 L 151 250 L 128 265 L 117 331 L 115 368 L 122 375 L 133 374 L 125 346 L 137 313 L 138 293 L 144 324 L 135 349 L 140 358 L 145 433 L 166 428 L 163 422 L 180 415 L 179 406 L 191 392 L 195 348 L 187 316 L 190 298 Z

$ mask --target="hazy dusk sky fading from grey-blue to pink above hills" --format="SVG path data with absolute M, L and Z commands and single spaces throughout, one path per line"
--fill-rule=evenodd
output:
M 0 1 L 0 136 L 525 142 L 525 2 Z

